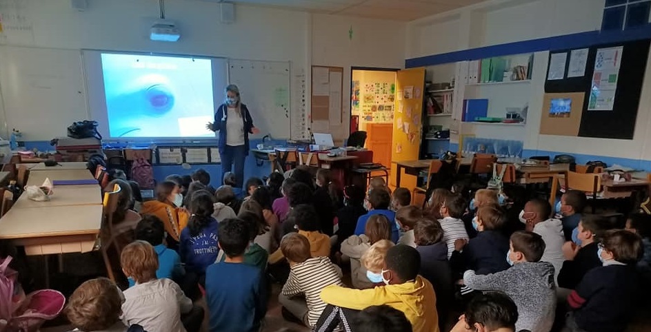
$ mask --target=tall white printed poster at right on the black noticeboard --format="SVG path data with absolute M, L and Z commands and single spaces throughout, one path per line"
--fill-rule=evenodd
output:
M 615 102 L 623 47 L 600 48 L 594 59 L 589 111 L 611 111 Z

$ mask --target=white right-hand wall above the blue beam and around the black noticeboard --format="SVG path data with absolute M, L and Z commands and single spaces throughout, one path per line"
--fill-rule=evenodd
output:
M 419 19 L 407 26 L 407 57 L 599 30 L 603 3 L 604 0 L 493 0 Z M 651 160 L 651 65 L 645 74 L 633 140 L 550 136 L 539 134 L 548 52 L 538 52 L 536 56 L 525 132 L 521 128 L 482 127 L 478 136 L 518 136 L 525 141 L 525 149 Z

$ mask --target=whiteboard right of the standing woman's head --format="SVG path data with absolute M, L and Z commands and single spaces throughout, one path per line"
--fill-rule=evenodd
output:
M 290 63 L 231 59 L 228 74 L 260 129 L 259 136 L 290 138 Z

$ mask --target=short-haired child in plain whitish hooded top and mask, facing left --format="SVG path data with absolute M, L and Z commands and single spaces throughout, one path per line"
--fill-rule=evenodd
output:
M 550 218 L 552 206 L 547 200 L 535 198 L 524 205 L 520 214 L 520 221 L 525 224 L 527 231 L 533 231 L 543 237 L 545 241 L 545 253 L 542 262 L 550 262 L 554 265 L 554 280 L 558 280 L 561 267 L 565 261 L 563 256 L 563 225 L 561 220 Z

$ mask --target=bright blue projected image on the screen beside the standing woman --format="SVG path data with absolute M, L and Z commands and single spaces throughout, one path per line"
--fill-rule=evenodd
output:
M 212 62 L 174 56 L 101 54 L 110 136 L 214 136 Z

